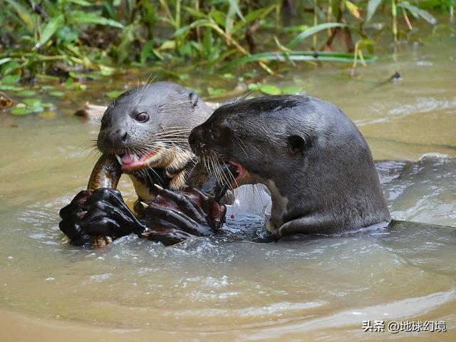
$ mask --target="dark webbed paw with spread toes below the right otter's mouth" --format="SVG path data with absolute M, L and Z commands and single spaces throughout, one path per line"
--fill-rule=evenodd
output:
M 147 229 L 142 235 L 170 245 L 190 237 L 212 235 L 224 222 L 227 208 L 193 188 L 172 192 L 158 187 L 158 195 L 145 209 Z

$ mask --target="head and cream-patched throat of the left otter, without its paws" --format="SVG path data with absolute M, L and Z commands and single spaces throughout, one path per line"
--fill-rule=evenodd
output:
M 140 201 L 150 203 L 157 193 L 154 184 L 182 188 L 195 165 L 188 135 L 211 113 L 192 90 L 170 82 L 150 83 L 108 106 L 97 147 L 103 155 L 117 157 Z

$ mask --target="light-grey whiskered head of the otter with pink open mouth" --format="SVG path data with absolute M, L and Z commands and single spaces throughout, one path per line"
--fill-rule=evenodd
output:
M 206 108 L 194 91 L 175 83 L 129 90 L 103 114 L 98 150 L 115 155 L 125 173 L 167 167 L 173 156 L 190 154 L 187 136 L 206 118 L 195 112 Z

